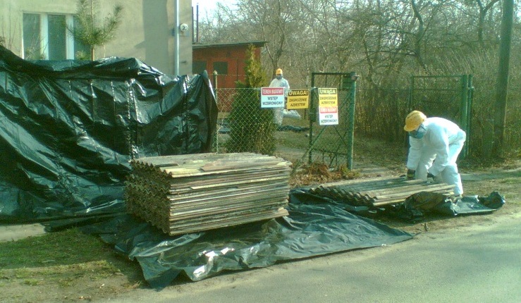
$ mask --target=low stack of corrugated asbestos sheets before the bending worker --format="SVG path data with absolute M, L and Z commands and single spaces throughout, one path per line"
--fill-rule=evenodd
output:
M 422 180 L 405 180 L 397 177 L 346 180 L 319 185 L 310 190 L 312 194 L 329 197 L 353 206 L 382 206 L 404 202 L 417 192 L 453 194 L 454 185 L 428 183 Z

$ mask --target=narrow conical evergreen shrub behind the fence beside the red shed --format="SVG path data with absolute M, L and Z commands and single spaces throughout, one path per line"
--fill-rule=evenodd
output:
M 245 61 L 245 82 L 237 82 L 238 94 L 232 104 L 228 120 L 230 139 L 226 141 L 227 152 L 255 152 L 270 154 L 275 152 L 273 111 L 260 108 L 258 87 L 266 85 L 266 73 L 258 58 L 255 47 L 247 49 Z

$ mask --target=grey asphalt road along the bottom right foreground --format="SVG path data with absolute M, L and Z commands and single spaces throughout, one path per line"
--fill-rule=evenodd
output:
M 110 302 L 521 302 L 521 216 L 494 225 L 422 233 L 360 249 Z

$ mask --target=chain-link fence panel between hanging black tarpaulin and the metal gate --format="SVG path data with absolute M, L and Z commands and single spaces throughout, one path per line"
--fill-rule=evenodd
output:
M 307 149 L 307 110 L 285 111 L 283 124 L 274 123 L 274 110 L 260 108 L 260 88 L 215 90 L 219 115 L 213 152 L 291 154 L 298 159 Z

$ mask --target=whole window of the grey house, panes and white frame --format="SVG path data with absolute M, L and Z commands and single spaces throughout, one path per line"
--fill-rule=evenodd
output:
M 75 25 L 73 15 L 23 14 L 23 58 L 28 60 L 74 59 L 88 47 L 74 41 L 66 25 Z

